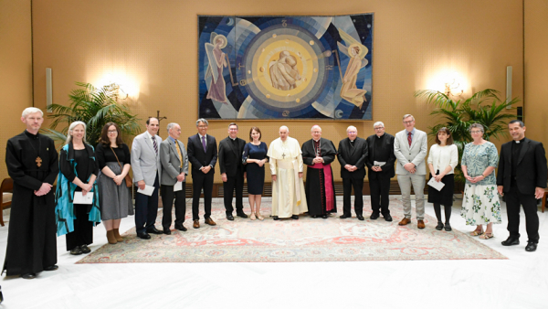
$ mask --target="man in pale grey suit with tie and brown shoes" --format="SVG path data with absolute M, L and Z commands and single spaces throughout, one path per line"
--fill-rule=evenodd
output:
M 411 185 L 415 191 L 416 227 L 425 228 L 425 199 L 424 190 L 427 175 L 427 133 L 415 128 L 415 117 L 404 115 L 404 131 L 395 133 L 394 154 L 397 158 L 395 174 L 402 191 L 404 216 L 398 224 L 411 223 Z

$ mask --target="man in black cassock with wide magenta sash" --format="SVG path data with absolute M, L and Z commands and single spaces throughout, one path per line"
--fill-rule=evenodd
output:
M 331 163 L 337 150 L 332 141 L 321 138 L 321 127 L 312 126 L 312 139 L 302 144 L 302 162 L 308 165 L 306 170 L 306 203 L 312 218 L 327 218 L 329 213 L 337 212 L 335 187 Z

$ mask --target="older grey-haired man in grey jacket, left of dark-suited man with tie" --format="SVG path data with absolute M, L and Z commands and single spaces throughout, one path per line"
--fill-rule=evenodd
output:
M 186 231 L 183 226 L 186 214 L 185 183 L 188 175 L 188 156 L 183 142 L 179 141 L 181 126 L 177 123 L 167 125 L 169 136 L 160 144 L 160 161 L 162 162 L 162 204 L 163 204 L 163 234 L 170 235 L 172 223 L 172 207 L 175 199 L 175 229 Z M 182 189 L 174 191 L 174 185 L 182 183 Z

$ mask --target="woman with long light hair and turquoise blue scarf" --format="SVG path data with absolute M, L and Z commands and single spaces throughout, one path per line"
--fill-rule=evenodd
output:
M 74 122 L 68 127 L 67 142 L 59 157 L 55 215 L 58 236 L 67 234 L 70 254 L 90 253 L 93 226 L 100 222 L 98 188 L 95 182 L 99 165 L 95 151 L 86 142 L 86 123 Z M 91 204 L 73 203 L 76 192 L 92 195 Z

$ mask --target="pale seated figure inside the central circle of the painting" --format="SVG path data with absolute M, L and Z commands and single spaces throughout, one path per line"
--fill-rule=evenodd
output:
M 297 59 L 284 50 L 279 53 L 277 61 L 269 63 L 270 80 L 272 87 L 280 91 L 290 91 L 297 87 L 296 82 L 300 80 L 299 69 L 297 69 Z

